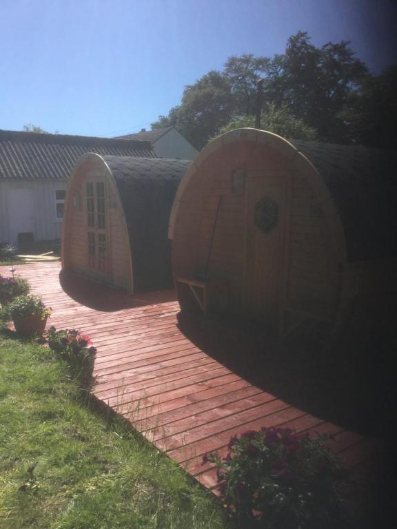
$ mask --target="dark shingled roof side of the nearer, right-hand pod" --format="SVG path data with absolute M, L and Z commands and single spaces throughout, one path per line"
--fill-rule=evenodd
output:
M 291 143 L 329 189 L 345 229 L 348 260 L 397 255 L 397 152 Z

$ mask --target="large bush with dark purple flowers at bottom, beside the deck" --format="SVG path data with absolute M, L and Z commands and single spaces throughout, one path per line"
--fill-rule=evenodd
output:
M 250 430 L 230 439 L 225 458 L 212 453 L 203 464 L 216 463 L 221 497 L 238 527 L 341 527 L 347 474 L 324 440 L 290 428 Z

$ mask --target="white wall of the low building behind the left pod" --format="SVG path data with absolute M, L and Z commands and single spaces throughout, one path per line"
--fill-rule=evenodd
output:
M 18 231 L 32 231 L 34 240 L 61 238 L 55 191 L 66 185 L 67 180 L 1 180 L 0 243 L 17 242 Z

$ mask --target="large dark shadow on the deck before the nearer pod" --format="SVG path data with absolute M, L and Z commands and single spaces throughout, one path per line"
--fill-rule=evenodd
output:
M 307 413 L 368 437 L 396 437 L 390 325 L 360 304 L 343 335 L 307 324 L 284 342 L 258 322 L 178 315 L 181 332 L 251 384 Z

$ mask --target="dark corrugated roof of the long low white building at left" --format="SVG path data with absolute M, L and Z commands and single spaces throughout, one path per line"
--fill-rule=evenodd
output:
M 146 141 L 0 130 L 0 180 L 63 180 L 86 152 L 156 157 Z

